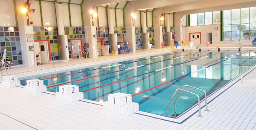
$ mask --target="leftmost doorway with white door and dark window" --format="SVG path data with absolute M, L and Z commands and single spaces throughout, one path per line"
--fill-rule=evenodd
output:
M 47 42 L 35 42 L 34 43 L 35 55 L 39 56 L 39 63 L 49 63 L 49 50 Z

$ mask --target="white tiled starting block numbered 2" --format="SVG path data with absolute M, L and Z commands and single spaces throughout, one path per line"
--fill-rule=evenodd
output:
M 79 92 L 79 87 L 77 85 L 63 85 L 59 86 L 59 92 L 56 93 L 56 99 L 76 102 L 84 99 L 84 93 Z

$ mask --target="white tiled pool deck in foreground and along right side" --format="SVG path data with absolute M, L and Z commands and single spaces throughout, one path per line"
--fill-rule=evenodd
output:
M 0 86 L 0 130 L 256 130 L 255 73 L 253 66 L 244 73 L 244 83 L 238 76 L 210 96 L 209 112 L 202 108 L 202 117 L 195 113 L 179 123 L 136 113 L 126 117 L 103 111 L 101 105 Z

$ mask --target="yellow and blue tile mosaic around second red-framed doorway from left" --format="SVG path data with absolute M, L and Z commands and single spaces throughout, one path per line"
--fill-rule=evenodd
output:
M 83 39 L 83 45 L 85 46 L 85 28 L 84 27 L 65 27 L 65 34 L 68 36 L 68 50 L 69 58 L 73 58 L 71 55 L 71 44 L 70 39 Z M 84 47 L 82 47 L 84 48 Z

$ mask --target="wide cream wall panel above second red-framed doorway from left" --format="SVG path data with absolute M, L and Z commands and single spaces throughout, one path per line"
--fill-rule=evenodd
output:
M 81 18 L 80 5 L 70 4 L 70 12 L 71 12 L 72 27 L 81 27 L 82 26 L 82 18 Z

